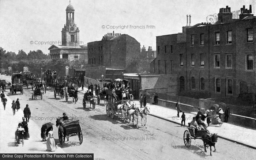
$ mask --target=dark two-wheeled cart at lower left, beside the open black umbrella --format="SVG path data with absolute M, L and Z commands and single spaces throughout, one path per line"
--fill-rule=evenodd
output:
M 79 143 L 82 144 L 83 142 L 83 134 L 82 129 L 79 124 L 79 120 L 66 120 L 58 118 L 56 121 L 56 126 L 59 126 L 59 140 L 60 144 L 62 145 L 65 142 L 65 138 L 69 141 L 69 137 L 78 136 Z

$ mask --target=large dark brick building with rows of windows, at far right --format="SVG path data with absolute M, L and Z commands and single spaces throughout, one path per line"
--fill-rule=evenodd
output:
M 171 43 L 179 34 L 158 36 L 154 73 L 177 74 L 177 92 L 184 88 L 209 97 L 254 94 L 256 16 L 251 13 L 251 5 L 243 6 L 239 19 L 233 19 L 230 7 L 220 8 L 216 23 L 199 23 L 180 34 L 185 36 L 183 50 L 182 44 Z M 171 44 L 178 47 L 173 56 Z

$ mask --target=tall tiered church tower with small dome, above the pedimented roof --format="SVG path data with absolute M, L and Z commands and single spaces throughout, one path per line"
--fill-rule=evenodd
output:
M 70 4 L 66 8 L 66 24 L 61 31 L 61 41 L 63 46 L 79 46 L 79 29 L 76 27 L 75 9 Z

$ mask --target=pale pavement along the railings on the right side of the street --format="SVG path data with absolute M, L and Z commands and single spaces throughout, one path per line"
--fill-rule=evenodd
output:
M 79 88 L 80 93 L 82 92 L 84 94 L 87 91 L 87 88 L 84 87 L 84 91 L 81 91 L 81 90 L 82 88 Z M 95 95 L 95 92 L 94 92 L 94 95 Z M 135 100 L 135 103 L 136 103 L 136 106 L 140 106 L 140 103 L 138 100 Z M 165 106 L 154 105 L 149 103 L 147 104 L 147 106 L 150 107 L 149 115 L 181 125 L 182 113 L 180 113 L 180 117 L 177 117 L 177 110 L 174 110 Z M 196 115 L 195 113 L 185 113 L 185 115 L 186 115 L 185 125 L 186 127 L 188 127 L 188 123 L 191 122 L 193 117 L 195 117 Z M 204 123 L 206 123 L 206 121 Z M 206 126 L 207 126 L 207 123 L 206 123 Z M 256 149 L 256 143 L 255 143 L 256 130 L 254 129 L 236 126 L 229 123 L 223 123 L 221 126 L 212 125 L 210 123 L 210 126 L 207 127 L 207 129 L 209 130 L 210 133 L 217 133 L 219 138 L 223 138 L 225 140 Z

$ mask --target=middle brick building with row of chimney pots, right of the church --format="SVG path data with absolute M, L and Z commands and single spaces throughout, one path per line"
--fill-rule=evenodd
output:
M 88 64 L 124 69 L 131 73 L 131 62 L 140 54 L 140 43 L 127 34 L 108 33 L 101 41 L 88 43 Z

